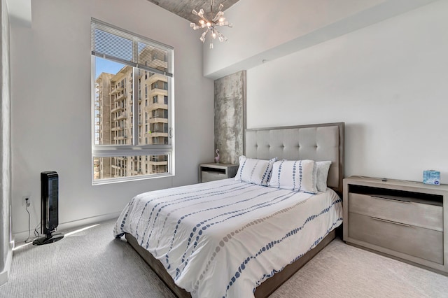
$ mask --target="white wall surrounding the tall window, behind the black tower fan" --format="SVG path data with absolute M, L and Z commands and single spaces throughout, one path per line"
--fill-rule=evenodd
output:
M 181 17 L 147 0 L 39 0 L 31 28 L 11 25 L 13 234 L 40 220 L 40 173 L 59 173 L 59 228 L 118 215 L 134 194 L 197 183 L 213 160 L 213 81 L 202 45 Z M 91 184 L 90 18 L 174 47 L 176 176 Z M 73 223 L 74 222 L 74 223 Z

